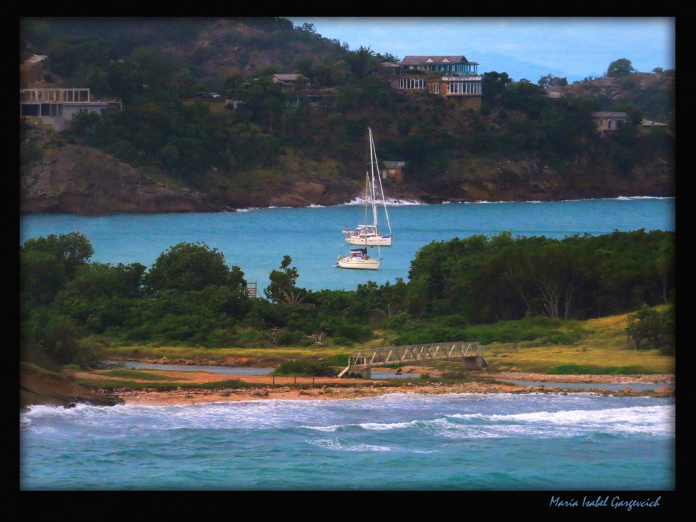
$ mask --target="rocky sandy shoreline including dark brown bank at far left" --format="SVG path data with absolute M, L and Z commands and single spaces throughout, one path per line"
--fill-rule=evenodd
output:
M 158 361 L 141 361 L 163 363 Z M 240 365 L 241 361 L 235 361 Z M 245 366 L 258 361 L 244 361 Z M 649 375 L 548 375 L 527 372 L 487 372 L 470 373 L 466 381 L 443 383 L 440 381 L 421 381 L 408 379 L 396 381 L 367 379 L 338 379 L 335 377 L 272 377 L 269 375 L 223 375 L 203 371 L 177 370 L 176 366 L 205 364 L 204 361 L 167 360 L 171 370 L 150 370 L 162 377 L 180 381 L 181 386 L 158 390 L 156 388 L 132 389 L 127 387 L 91 390 L 77 385 L 76 379 L 100 377 L 100 370 L 71 371 L 63 375 L 38 371 L 20 365 L 19 408 L 45 404 L 49 406 L 72 407 L 77 404 L 96 406 L 115 406 L 118 404 L 166 405 L 166 404 L 206 404 L 244 400 L 340 400 L 375 397 L 391 393 L 419 393 L 424 395 L 447 393 L 596 393 L 599 395 L 674 397 L 674 388 L 661 386 L 661 383 L 674 383 L 672 374 Z M 217 365 L 226 365 L 220 364 Z M 230 365 L 230 364 L 227 364 Z M 393 371 L 383 369 L 384 371 Z M 402 367 L 404 374 L 428 373 L 431 378 L 441 377 L 441 372 L 428 367 Z M 415 377 L 415 375 L 414 375 Z M 110 380 L 119 379 L 109 377 Z M 128 380 L 128 379 L 124 379 Z M 225 386 L 224 381 L 237 381 L 235 386 Z M 528 381 L 544 383 L 538 386 L 523 386 L 509 381 Z M 216 386 L 221 383 L 221 386 Z M 574 388 L 572 383 L 596 383 L 596 388 Z M 602 383 L 625 383 L 623 390 L 606 390 Z M 633 390 L 631 383 L 654 383 L 653 389 Z M 207 384 L 207 386 L 203 386 Z M 562 386 L 559 386 L 562 384 Z M 198 386 L 200 385 L 200 386 Z M 570 385 L 570 386 L 569 386 Z M 212 387 L 211 387 L 212 386 Z

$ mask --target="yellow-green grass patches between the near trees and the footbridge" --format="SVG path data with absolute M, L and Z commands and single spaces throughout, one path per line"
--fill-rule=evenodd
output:
M 521 342 L 491 342 L 483 345 L 483 355 L 493 372 L 537 372 L 561 374 L 673 374 L 675 357 L 665 356 L 656 349 L 635 350 L 626 338 L 626 315 L 569 321 L 560 333 L 550 338 Z M 510 329 L 510 324 L 504 326 Z M 496 325 L 488 327 L 493 331 Z M 481 327 L 476 329 L 481 331 Z M 568 335 L 564 335 L 567 333 Z M 553 338 L 560 339 L 559 343 Z M 472 339 L 461 339 L 475 341 Z M 377 349 L 393 346 L 381 333 L 378 338 L 354 347 L 315 345 L 308 348 L 181 348 L 181 347 L 108 347 L 104 359 L 167 358 L 196 361 L 200 365 L 228 364 L 250 367 L 276 366 L 284 361 L 325 361 L 336 367 L 347 364 L 348 356 L 358 349 Z M 413 364 L 413 363 L 409 363 Z M 457 371 L 457 363 L 440 361 L 432 364 L 441 370 Z

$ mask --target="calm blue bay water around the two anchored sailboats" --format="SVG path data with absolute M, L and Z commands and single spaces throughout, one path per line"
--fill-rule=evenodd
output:
M 557 203 L 467 203 L 400 205 L 389 209 L 394 244 L 380 249 L 379 270 L 334 268 L 349 245 L 341 233 L 363 218 L 360 205 L 316 208 L 251 209 L 221 214 L 119 214 L 113 216 L 23 216 L 19 242 L 81 229 L 93 242 L 93 261 L 140 262 L 151 267 L 157 256 L 179 242 L 205 242 L 239 266 L 259 290 L 271 270 L 290 255 L 299 270 L 298 285 L 309 290 L 353 290 L 373 280 L 379 285 L 407 280 L 418 248 L 432 241 L 475 234 L 562 238 L 608 234 L 613 230 L 674 230 L 674 198 L 620 198 Z M 379 255 L 377 247 L 370 255 Z

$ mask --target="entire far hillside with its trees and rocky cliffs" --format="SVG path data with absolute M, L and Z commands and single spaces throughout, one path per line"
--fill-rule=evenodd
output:
M 674 196 L 673 127 L 599 139 L 589 120 L 624 106 L 673 120 L 674 71 L 548 91 L 484 76 L 484 105 L 468 111 L 371 73 L 393 56 L 279 17 L 31 19 L 21 29 L 20 88 L 84 86 L 124 107 L 70 132 L 20 122 L 24 214 L 345 203 L 361 196 L 367 127 L 380 159 L 406 161 L 406 180 L 386 184 L 390 198 Z M 291 72 L 334 104 L 287 106 L 287 93 L 262 82 Z M 548 99 L 553 90 L 561 100 Z M 197 100 L 201 91 L 246 101 L 224 110 Z

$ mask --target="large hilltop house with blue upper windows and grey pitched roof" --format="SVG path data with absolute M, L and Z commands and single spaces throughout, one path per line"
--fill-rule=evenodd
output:
M 398 77 L 390 85 L 406 92 L 441 95 L 466 108 L 480 109 L 483 92 L 478 65 L 465 56 L 406 56 L 397 64 L 399 69 L 393 68 Z

